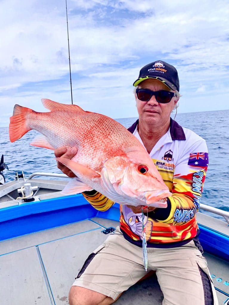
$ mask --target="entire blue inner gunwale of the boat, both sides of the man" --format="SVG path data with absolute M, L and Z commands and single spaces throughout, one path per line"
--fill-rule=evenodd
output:
M 0 210 L 0 241 L 93 217 L 119 221 L 119 204 L 101 212 L 94 209 L 82 194 L 76 194 L 6 207 Z M 229 236 L 198 225 L 203 249 L 229 261 Z

